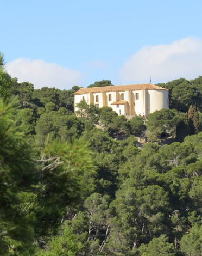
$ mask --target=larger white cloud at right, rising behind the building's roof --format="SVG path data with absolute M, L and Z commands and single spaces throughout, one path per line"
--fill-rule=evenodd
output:
M 167 82 L 202 75 L 202 41 L 184 38 L 168 45 L 144 46 L 124 63 L 122 82 Z

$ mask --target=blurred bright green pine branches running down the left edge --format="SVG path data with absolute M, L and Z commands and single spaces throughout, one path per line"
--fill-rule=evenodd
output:
M 19 193 L 29 192 L 35 183 L 35 168 L 31 149 L 23 133 L 23 127 L 14 121 L 12 105 L 0 100 L 0 240 L 1 255 L 9 246 L 23 249 L 33 243 L 33 228 L 29 218 L 20 209 Z

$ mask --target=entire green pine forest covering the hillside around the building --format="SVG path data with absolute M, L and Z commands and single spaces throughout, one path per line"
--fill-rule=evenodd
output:
M 0 255 L 202 255 L 202 76 L 157 85 L 145 122 L 74 113 L 80 87 L 34 89 L 1 54 Z

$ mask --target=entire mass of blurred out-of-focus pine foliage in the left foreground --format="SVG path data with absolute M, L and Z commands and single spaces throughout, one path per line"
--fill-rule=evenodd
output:
M 26 110 L 30 111 L 23 109 L 22 114 L 18 113 L 23 117 Z M 13 121 L 15 115 L 11 105 L 1 102 L 2 255 L 12 249 L 33 251 L 34 239 L 55 232 L 65 207 L 76 206 L 83 194 L 91 191 L 85 185 L 94 169 L 90 150 L 82 139 L 74 143 L 46 143 L 36 166 L 23 128 L 18 126 L 18 120 Z

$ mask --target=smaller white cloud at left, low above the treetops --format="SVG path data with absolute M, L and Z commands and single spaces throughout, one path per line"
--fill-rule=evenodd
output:
M 71 70 L 42 59 L 19 58 L 8 62 L 5 66 L 12 77 L 19 82 L 29 81 L 35 88 L 44 86 L 60 89 L 71 89 L 79 85 L 82 75 L 77 70 Z

